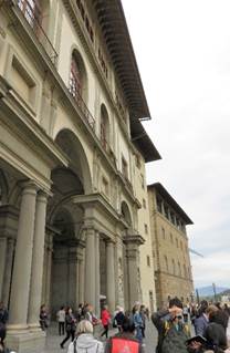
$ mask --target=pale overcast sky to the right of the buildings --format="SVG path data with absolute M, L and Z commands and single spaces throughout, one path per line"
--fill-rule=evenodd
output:
M 123 0 L 163 160 L 147 167 L 194 220 L 196 287 L 230 287 L 230 1 Z

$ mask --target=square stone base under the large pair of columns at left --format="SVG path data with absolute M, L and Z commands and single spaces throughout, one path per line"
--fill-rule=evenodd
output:
M 17 353 L 41 353 L 45 346 L 45 332 L 41 330 L 35 332 L 8 330 L 6 344 Z

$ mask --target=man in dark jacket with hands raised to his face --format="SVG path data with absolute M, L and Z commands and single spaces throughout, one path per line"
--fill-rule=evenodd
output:
M 158 331 L 156 353 L 186 353 L 186 340 L 189 338 L 187 326 L 181 322 L 182 303 L 178 298 L 169 301 L 169 309 L 151 315 L 151 321 Z

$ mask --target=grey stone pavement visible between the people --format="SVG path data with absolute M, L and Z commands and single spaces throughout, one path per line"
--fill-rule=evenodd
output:
M 117 330 L 113 329 L 109 331 L 109 335 L 114 335 L 117 332 Z M 96 332 L 95 336 L 98 336 L 100 332 Z M 46 336 L 46 347 L 43 353 L 66 353 L 67 352 L 67 346 L 70 341 L 65 345 L 65 350 L 61 350 L 60 347 L 60 342 L 63 340 L 64 336 L 60 338 L 58 335 L 58 328 L 52 325 L 48 330 L 48 336 Z M 144 341 L 145 345 L 145 352 L 146 353 L 155 353 L 155 346 L 157 342 L 157 332 L 156 329 L 154 328 L 153 323 L 149 321 L 146 324 L 146 339 Z

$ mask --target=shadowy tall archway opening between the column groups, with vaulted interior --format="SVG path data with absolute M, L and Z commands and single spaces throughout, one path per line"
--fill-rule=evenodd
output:
M 82 226 L 84 210 L 72 197 L 91 190 L 87 159 L 76 136 L 62 131 L 56 143 L 70 158 L 69 168 L 52 170 L 52 198 L 48 205 L 43 300 L 52 316 L 61 305 L 74 309 L 83 300 Z

